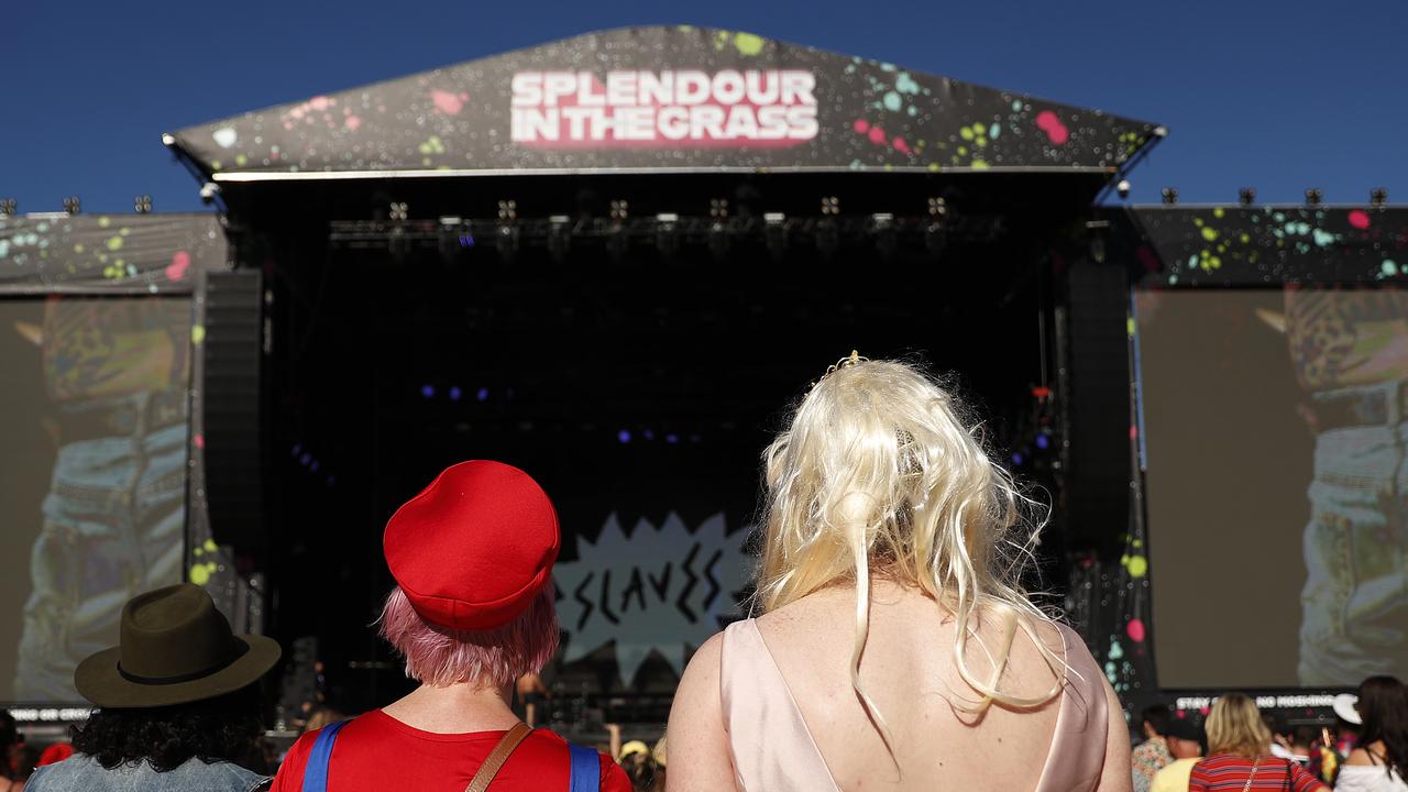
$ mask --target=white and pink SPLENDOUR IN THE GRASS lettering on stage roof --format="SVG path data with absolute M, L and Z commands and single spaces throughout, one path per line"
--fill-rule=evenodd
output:
M 518 72 L 511 138 L 536 148 L 790 147 L 817 137 L 805 69 Z

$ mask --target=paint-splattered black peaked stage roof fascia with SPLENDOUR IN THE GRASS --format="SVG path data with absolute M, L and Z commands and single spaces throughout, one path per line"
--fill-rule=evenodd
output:
M 465 175 L 1056 172 L 1164 130 L 697 27 L 591 32 L 163 135 L 215 182 Z

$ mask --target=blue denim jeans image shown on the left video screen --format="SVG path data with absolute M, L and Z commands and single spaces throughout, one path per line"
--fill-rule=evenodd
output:
M 92 414 L 117 416 L 111 423 L 121 426 L 59 447 L 31 559 L 14 688 L 20 700 L 77 700 L 73 668 L 117 644 L 122 605 L 180 582 L 186 416 L 158 416 L 152 396 L 61 407 L 61 431 L 65 419 Z

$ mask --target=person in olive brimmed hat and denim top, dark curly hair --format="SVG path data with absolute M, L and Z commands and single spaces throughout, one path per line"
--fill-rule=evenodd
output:
M 120 644 L 77 665 L 73 683 L 97 705 L 73 727 L 72 757 L 34 772 L 30 792 L 249 792 L 269 781 L 259 754 L 259 678 L 279 644 L 237 636 L 191 583 L 132 598 Z

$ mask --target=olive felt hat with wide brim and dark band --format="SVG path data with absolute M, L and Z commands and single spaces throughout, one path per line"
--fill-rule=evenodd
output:
M 100 707 L 158 707 L 232 693 L 279 662 L 279 643 L 237 636 L 206 589 L 179 583 L 122 606 L 120 644 L 79 664 L 73 685 Z

